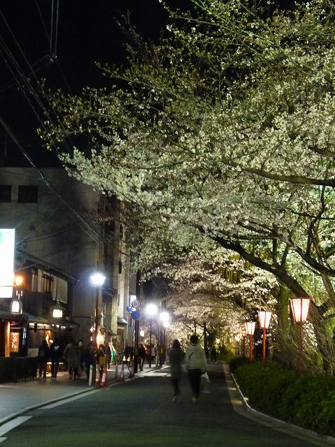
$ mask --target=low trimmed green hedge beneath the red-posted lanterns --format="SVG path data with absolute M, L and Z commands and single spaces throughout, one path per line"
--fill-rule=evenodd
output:
M 255 409 L 318 434 L 335 436 L 334 376 L 299 376 L 275 362 L 228 361 L 230 371 Z

